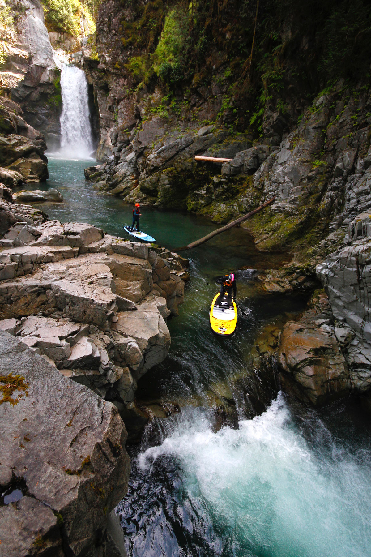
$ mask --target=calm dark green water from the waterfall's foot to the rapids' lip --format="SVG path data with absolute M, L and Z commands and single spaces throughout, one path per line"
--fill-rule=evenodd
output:
M 61 222 L 89 222 L 105 232 L 130 240 L 123 231 L 131 224 L 133 207 L 121 199 L 97 192 L 84 178 L 84 168 L 91 161 L 50 159 L 50 179 L 45 188 L 57 188 L 63 203 L 44 203 L 40 207 L 50 218 Z M 189 213 L 159 211 L 142 207 L 140 228 L 155 237 L 159 245 L 170 250 L 203 237 L 217 225 L 206 218 Z M 258 252 L 243 228 L 233 228 L 189 252 L 191 280 L 186 285 L 185 303 L 179 306 L 179 317 L 168 321 L 172 336 L 169 357 L 139 382 L 137 399 L 142 404 L 154 401 L 208 403 L 209 397 L 227 395 L 226 380 L 249 374 L 253 339 L 261 326 L 280 320 L 282 314 L 304 307 L 300 299 L 261 299 L 256 296 L 255 268 L 282 265 L 283 254 Z M 241 266 L 250 270 L 238 271 Z M 219 289 L 214 278 L 234 271 L 237 277 L 237 300 L 243 314 L 231 340 L 215 338 L 209 330 L 208 309 Z

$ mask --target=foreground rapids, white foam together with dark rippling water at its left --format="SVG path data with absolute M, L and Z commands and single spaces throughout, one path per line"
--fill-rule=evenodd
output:
M 119 505 L 129 555 L 369 555 L 369 442 L 356 434 L 352 447 L 326 421 L 298 419 L 282 394 L 217 433 L 207 412 L 183 411 L 134 461 Z

